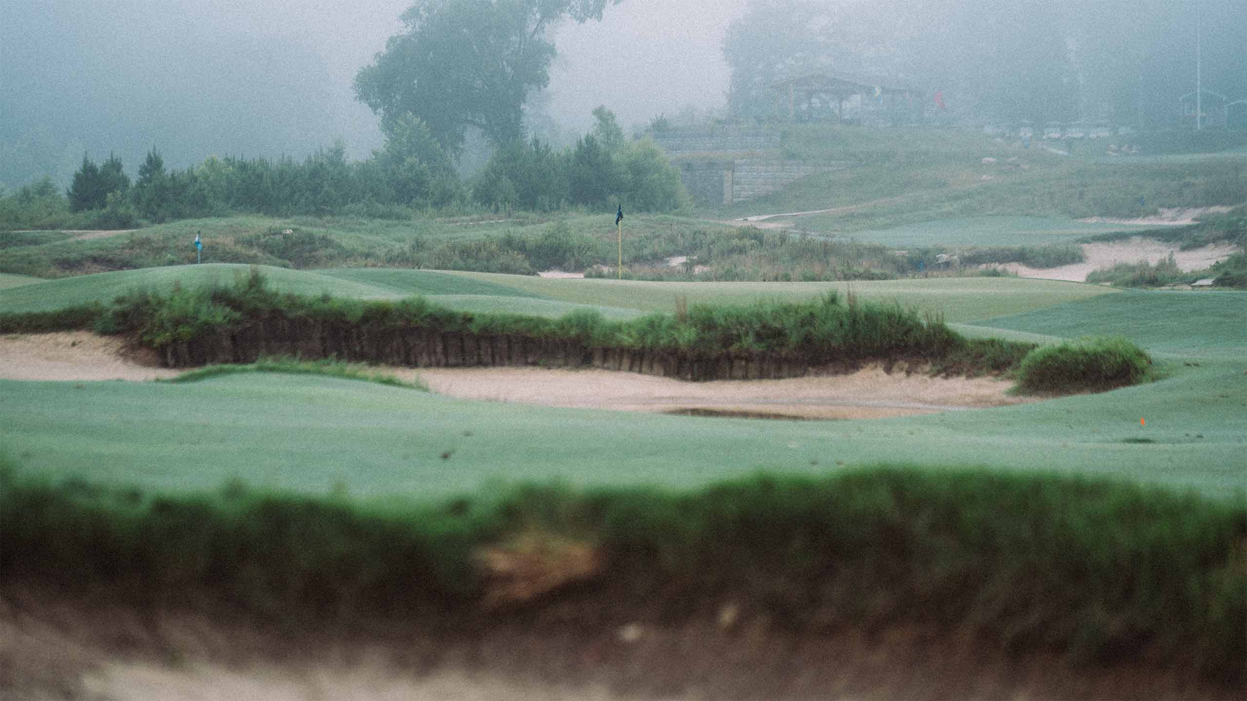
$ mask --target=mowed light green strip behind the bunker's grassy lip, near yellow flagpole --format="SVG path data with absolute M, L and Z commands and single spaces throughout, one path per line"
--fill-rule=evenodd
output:
M 677 297 L 688 303 L 747 303 L 758 299 L 802 301 L 831 289 L 852 291 L 862 299 L 899 301 L 940 313 L 949 322 L 1016 314 L 1116 291 L 1101 286 L 1020 278 L 924 278 L 878 282 L 641 282 L 556 279 L 498 273 L 438 272 L 395 268 L 292 271 L 259 266 L 271 287 L 298 294 L 329 293 L 357 299 L 398 299 L 413 294 L 468 309 L 560 316 L 584 306 L 604 316 L 626 318 L 640 312 L 671 312 Z M 41 281 L 0 289 L 0 312 L 46 312 L 89 302 L 111 302 L 131 289 L 167 291 L 175 283 L 229 284 L 247 274 L 243 264 L 173 266 L 117 271 Z M 496 298 L 495 307 L 490 299 Z

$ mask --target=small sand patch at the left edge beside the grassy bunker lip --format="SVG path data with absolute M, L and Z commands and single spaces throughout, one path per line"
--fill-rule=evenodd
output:
M 145 380 L 176 377 L 155 353 L 85 331 L 0 337 L 0 379 Z

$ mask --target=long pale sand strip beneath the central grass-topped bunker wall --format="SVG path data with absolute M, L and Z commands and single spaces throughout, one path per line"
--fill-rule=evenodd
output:
M 484 399 L 625 412 L 754 418 L 867 419 L 1018 404 L 1010 382 L 941 379 L 925 373 L 888 373 L 868 365 L 852 374 L 788 379 L 682 382 L 600 369 L 430 368 L 397 369 L 434 392 Z

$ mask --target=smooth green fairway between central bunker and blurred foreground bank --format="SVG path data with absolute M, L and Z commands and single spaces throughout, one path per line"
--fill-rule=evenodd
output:
M 561 283 L 614 289 L 631 304 L 652 294 L 656 307 L 673 287 L 702 287 L 520 279 L 559 283 L 540 291 L 572 289 Z M 887 289 L 932 292 L 948 283 L 955 292 L 944 299 L 970 299 L 969 309 L 1020 304 L 994 299 L 1001 288 L 974 294 L 960 287 L 984 282 L 1023 286 L 1015 292 L 1024 297 L 1035 281 L 897 281 Z M 1243 293 L 1115 293 L 1046 308 L 1041 299 L 1036 292 L 1029 314 L 999 321 L 959 316 L 979 319 L 980 332 L 998 323 L 1014 329 L 1006 333 L 1120 332 L 1163 353 L 1166 377 L 1035 404 L 854 422 L 536 408 L 314 375 L 0 382 L 0 450 L 39 473 L 163 490 L 214 489 L 238 478 L 307 493 L 340 484 L 370 496 L 445 496 L 499 480 L 695 486 L 756 470 L 824 473 L 878 462 L 1114 475 L 1215 496 L 1245 486 L 1247 360 L 1236 350 L 1247 336 Z M 1120 321 L 1124 309 L 1156 321 Z

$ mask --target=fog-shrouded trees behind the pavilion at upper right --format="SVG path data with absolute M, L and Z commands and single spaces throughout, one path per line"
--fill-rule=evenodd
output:
M 1198 22 L 1198 24 L 1197 24 Z M 776 80 L 811 72 L 914 85 L 968 121 L 1176 125 L 1195 90 L 1247 97 L 1242 0 L 756 0 L 731 24 L 729 112 L 774 112 Z

